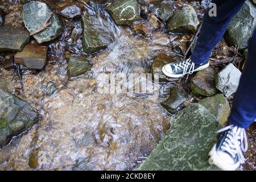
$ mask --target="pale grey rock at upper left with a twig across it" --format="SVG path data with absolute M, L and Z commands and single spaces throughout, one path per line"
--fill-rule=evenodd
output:
M 30 33 L 40 30 L 50 16 L 48 23 L 51 24 L 45 30 L 33 35 L 38 43 L 56 39 L 64 29 L 63 20 L 58 14 L 53 14 L 45 3 L 32 1 L 23 5 L 24 24 Z

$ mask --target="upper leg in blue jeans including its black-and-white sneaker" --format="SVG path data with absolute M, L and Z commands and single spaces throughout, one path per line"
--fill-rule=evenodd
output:
M 209 66 L 209 56 L 220 42 L 228 24 L 238 13 L 246 0 L 213 0 L 217 6 L 217 16 L 209 16 L 209 9 L 204 15 L 203 25 L 196 47 L 189 59 L 164 65 L 162 72 L 172 78 L 183 77 L 187 73 L 200 71 Z

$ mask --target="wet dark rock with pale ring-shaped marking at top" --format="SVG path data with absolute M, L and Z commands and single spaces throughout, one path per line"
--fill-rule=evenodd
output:
M 118 25 L 127 25 L 139 19 L 139 4 L 137 0 L 117 0 L 106 7 Z

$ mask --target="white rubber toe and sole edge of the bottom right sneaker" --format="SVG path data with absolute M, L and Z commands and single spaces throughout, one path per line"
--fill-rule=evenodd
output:
M 212 147 L 212 150 L 210 150 L 209 156 L 209 164 L 214 164 L 224 171 L 235 171 L 240 166 L 240 162 L 237 162 L 236 164 L 225 163 L 224 160 L 222 160 L 220 156 L 217 155 L 216 144 Z

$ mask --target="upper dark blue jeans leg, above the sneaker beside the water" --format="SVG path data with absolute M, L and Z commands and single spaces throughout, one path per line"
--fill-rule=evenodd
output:
M 220 42 L 233 16 L 238 13 L 246 0 L 213 0 L 217 5 L 217 16 L 209 16 L 209 9 L 204 15 L 203 25 L 196 47 L 191 55 L 195 64 L 209 59 L 213 48 Z

